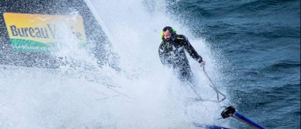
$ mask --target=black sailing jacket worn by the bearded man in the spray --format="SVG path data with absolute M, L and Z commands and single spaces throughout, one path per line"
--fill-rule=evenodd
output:
M 188 60 L 185 50 L 197 62 L 202 62 L 202 57 L 197 54 L 197 51 L 189 43 L 184 35 L 174 34 L 170 41 L 163 41 L 159 47 L 159 56 L 163 65 L 172 66 L 173 68 L 188 68 Z M 190 67 L 189 67 L 190 69 Z

